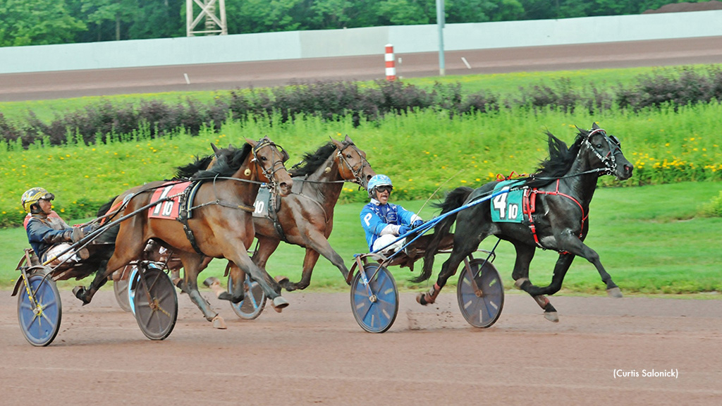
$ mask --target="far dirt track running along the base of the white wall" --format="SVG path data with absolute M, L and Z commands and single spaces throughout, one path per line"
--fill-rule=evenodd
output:
M 436 52 L 396 53 L 399 77 L 439 74 Z M 467 68 L 464 60 L 469 64 Z M 722 37 L 445 52 L 446 74 L 492 74 L 722 63 Z M 190 85 L 184 74 L 188 74 Z M 231 90 L 317 80 L 383 79 L 383 55 L 0 74 L 0 101 L 182 90 Z

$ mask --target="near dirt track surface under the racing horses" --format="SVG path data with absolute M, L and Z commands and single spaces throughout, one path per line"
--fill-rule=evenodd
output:
M 363 332 L 347 293 L 287 293 L 282 314 L 225 317 L 216 330 L 186 295 L 165 341 L 147 340 L 104 288 L 62 291 L 55 342 L 32 347 L 0 292 L 2 405 L 719 405 L 722 301 L 555 297 L 560 322 L 508 292 L 474 329 L 452 290 L 422 307 L 403 293 L 384 334 Z M 615 378 L 615 370 L 621 370 Z M 645 373 L 675 376 L 645 376 Z M 636 374 L 636 375 L 635 375 Z

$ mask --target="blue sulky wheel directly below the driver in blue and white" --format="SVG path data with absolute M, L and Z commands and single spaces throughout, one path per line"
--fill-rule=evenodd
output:
M 378 264 L 364 267 L 351 282 L 351 311 L 362 329 L 370 333 L 383 333 L 391 328 L 399 314 L 399 290 L 388 269 Z

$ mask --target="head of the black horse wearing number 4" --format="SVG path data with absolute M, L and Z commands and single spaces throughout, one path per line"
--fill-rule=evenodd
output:
M 583 146 L 591 152 L 590 163 L 604 174 L 614 175 L 620 181 L 632 177 L 634 165 L 622 154 L 622 145 L 617 137 L 606 134 L 596 123 L 590 131 L 579 129 L 583 135 Z M 580 150 L 581 151 L 581 150 Z

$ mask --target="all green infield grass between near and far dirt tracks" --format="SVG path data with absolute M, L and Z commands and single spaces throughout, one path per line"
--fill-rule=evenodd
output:
M 513 92 L 519 86 L 530 86 L 558 77 L 570 77 L 579 83 L 608 82 L 614 85 L 644 69 L 523 73 L 453 77 L 465 90 L 483 88 L 495 92 Z M 437 78 L 438 79 L 438 78 Z M 414 83 L 429 85 L 434 79 L 416 79 Z M 117 96 L 118 100 L 142 97 L 181 97 L 178 94 Z M 197 94 L 199 100 L 212 94 Z M 116 98 L 110 98 L 116 100 Z M 51 117 L 54 111 L 80 108 L 96 98 L 48 100 L 28 103 L 0 103 L 0 111 L 8 118 L 18 118 L 31 108 L 40 117 Z M 292 152 L 296 162 L 303 152 L 313 150 L 328 137 L 349 134 L 357 145 L 367 151 L 370 163 L 379 173 L 388 173 L 396 184 L 396 199 L 411 210 L 419 210 L 424 200 L 438 189 L 460 185 L 476 186 L 497 173 L 508 174 L 534 170 L 538 160 L 546 156 L 546 129 L 567 142 L 573 140 L 573 125 L 588 128 L 597 121 L 622 139 L 625 155 L 635 163 L 635 178 L 628 183 L 674 182 L 679 173 L 690 168 L 707 167 L 722 172 L 720 134 L 721 105 L 630 115 L 620 112 L 589 116 L 588 113 L 539 114 L 505 111 L 497 115 L 480 115 L 466 119 L 445 119 L 443 113 L 414 113 L 404 118 L 387 118 L 380 124 L 353 129 L 348 121 L 322 123 L 313 118 L 292 126 L 229 124 L 221 134 L 199 137 L 179 135 L 173 139 L 136 139 L 110 145 L 34 148 L 27 151 L 0 151 L 0 174 L 4 177 L 0 194 L 0 211 L 4 216 L 19 215 L 17 200 L 25 189 L 43 185 L 58 199 L 56 210 L 66 210 L 87 202 L 105 201 L 119 191 L 144 181 L 167 178 L 173 167 L 187 163 L 192 155 L 209 151 L 208 143 L 238 144 L 242 137 L 258 139 L 268 134 L 271 139 Z M 690 167 L 690 164 L 692 166 Z M 681 171 L 681 172 L 680 172 Z M 709 173 L 709 171 L 708 171 Z M 717 172 L 719 173 L 719 172 Z M 720 180 L 719 177 L 716 180 Z M 602 262 L 625 293 L 699 293 L 722 291 L 722 236 L 720 217 L 700 217 L 700 204 L 720 193 L 722 183 L 700 181 L 671 183 L 661 186 L 601 188 L 591 207 L 591 232 L 587 243 L 599 252 Z M 622 185 L 623 186 L 623 185 Z M 335 230 L 331 244 L 347 265 L 352 254 L 365 251 L 358 212 L 364 193 L 351 184 L 344 190 L 344 200 L 352 202 L 336 207 Z M 433 196 L 435 200 L 437 196 Z M 83 200 L 85 199 L 85 200 Z M 435 212 L 427 204 L 421 215 L 430 218 Z M 17 277 L 14 265 L 27 246 L 24 230 L 0 230 L 0 287 L 8 287 Z M 484 246 L 490 248 L 488 239 Z M 483 246 L 482 246 L 483 248 Z M 497 267 L 505 285 L 511 286 L 513 249 L 501 244 L 497 250 Z M 532 263 L 531 278 L 545 285 L 552 273 L 557 255 L 539 252 Z M 271 275 L 300 277 L 303 249 L 279 247 L 269 262 Z M 442 262 L 438 259 L 437 265 Z M 204 274 L 218 275 L 224 264 L 212 263 Z M 420 263 L 419 263 L 420 266 Z M 438 268 L 438 267 L 437 267 Z M 412 274 L 408 269 L 393 269 L 401 288 L 417 288 L 406 282 Z M 64 282 L 69 286 L 77 282 Z M 424 285 L 426 286 L 426 285 Z M 344 290 L 338 271 L 321 259 L 314 272 L 311 289 Z M 578 259 L 565 280 L 565 290 L 596 293 L 603 290 L 596 270 Z M 716 295 L 705 295 L 716 297 Z

